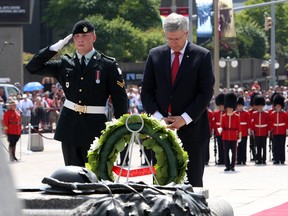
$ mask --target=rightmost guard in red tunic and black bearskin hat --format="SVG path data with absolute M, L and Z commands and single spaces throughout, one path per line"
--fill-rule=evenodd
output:
M 283 110 L 284 97 L 278 94 L 273 99 L 274 111 L 270 114 L 271 133 L 273 134 L 273 164 L 285 163 L 285 142 L 288 130 L 288 115 Z

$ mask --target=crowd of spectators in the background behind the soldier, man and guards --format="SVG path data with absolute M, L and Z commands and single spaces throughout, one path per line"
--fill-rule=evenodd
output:
M 24 92 L 22 95 L 17 95 L 16 104 L 17 108 L 21 111 L 22 115 L 22 127 L 23 132 L 28 133 L 28 124 L 36 128 L 39 131 L 54 131 L 58 122 L 59 114 L 63 103 L 65 101 L 65 94 L 62 90 L 62 86 L 58 83 L 54 84 L 53 80 L 43 79 L 42 84 L 45 87 L 40 91 Z M 244 109 L 250 109 L 251 95 L 254 92 L 261 93 L 266 100 L 264 110 L 269 110 L 272 106 L 271 95 L 274 92 L 281 93 L 285 97 L 284 110 L 288 111 L 288 87 L 287 86 L 270 86 L 267 90 L 261 89 L 257 81 L 249 88 L 240 87 L 234 85 L 233 88 L 220 89 L 220 92 L 234 92 L 244 98 Z M 141 86 L 129 85 L 127 87 L 127 95 L 129 99 L 129 110 L 131 114 L 137 114 L 144 112 L 144 107 L 141 102 Z M 183 95 L 185 97 L 185 95 Z M 0 95 L 0 109 L 5 110 L 5 102 L 7 100 L 4 95 Z M 213 97 L 209 108 L 214 111 L 215 98 Z M 1 111 L 1 110 L 0 110 Z M 1 115 L 1 113 L 0 113 Z M 2 115 L 1 115 L 2 116 Z M 107 101 L 107 116 L 111 119 L 113 116 L 112 101 Z

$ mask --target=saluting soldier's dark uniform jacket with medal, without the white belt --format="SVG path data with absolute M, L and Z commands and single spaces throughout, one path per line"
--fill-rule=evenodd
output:
M 115 117 L 127 113 L 128 99 L 124 81 L 114 58 L 95 51 L 82 71 L 76 54 L 72 57 L 65 55 L 57 61 L 50 60 L 55 54 L 48 47 L 40 50 L 26 69 L 32 74 L 55 77 L 62 85 L 66 98 L 74 103 L 106 106 L 111 95 Z M 96 82 L 97 73 L 100 83 Z M 76 146 L 89 146 L 96 136 L 101 135 L 106 121 L 103 114 L 79 114 L 63 107 L 55 139 Z

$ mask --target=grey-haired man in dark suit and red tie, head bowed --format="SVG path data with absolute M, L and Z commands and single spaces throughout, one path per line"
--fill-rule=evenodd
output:
M 194 187 L 202 187 L 205 145 L 210 137 L 207 106 L 215 78 L 210 52 L 187 40 L 188 28 L 188 20 L 182 15 L 172 13 L 165 19 L 167 44 L 149 52 L 141 99 L 147 113 L 164 119 L 168 127 L 177 130 L 189 154 L 188 181 Z M 175 70 L 174 59 L 178 55 L 180 66 L 172 84 L 171 71 Z

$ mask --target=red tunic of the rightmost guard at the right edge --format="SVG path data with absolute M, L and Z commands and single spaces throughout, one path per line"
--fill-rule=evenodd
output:
M 273 111 L 270 114 L 270 130 L 274 135 L 286 135 L 288 115 L 285 111 Z

